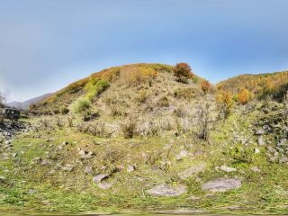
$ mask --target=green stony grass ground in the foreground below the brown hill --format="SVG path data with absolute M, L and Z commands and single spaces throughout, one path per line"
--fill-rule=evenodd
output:
M 275 101 L 238 106 L 227 120 L 213 123 L 209 143 L 171 131 L 99 138 L 69 126 L 69 116 L 62 115 L 6 123 L 0 203 L 45 211 L 110 206 L 284 212 L 284 107 Z

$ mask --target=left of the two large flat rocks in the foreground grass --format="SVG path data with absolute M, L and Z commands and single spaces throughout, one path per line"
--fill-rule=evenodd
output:
M 183 184 L 178 185 L 160 184 L 149 189 L 146 192 L 154 196 L 179 196 L 183 193 L 186 193 L 186 187 Z

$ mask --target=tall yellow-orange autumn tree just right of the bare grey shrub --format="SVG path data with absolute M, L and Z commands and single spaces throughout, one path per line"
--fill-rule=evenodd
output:
M 216 101 L 220 109 L 220 119 L 226 119 L 233 106 L 232 94 L 229 91 L 222 91 L 217 95 Z

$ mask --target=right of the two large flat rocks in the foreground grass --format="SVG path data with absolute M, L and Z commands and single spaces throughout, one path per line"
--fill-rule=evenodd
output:
M 225 192 L 241 187 L 241 181 L 234 178 L 218 178 L 202 184 L 202 190 L 211 192 Z

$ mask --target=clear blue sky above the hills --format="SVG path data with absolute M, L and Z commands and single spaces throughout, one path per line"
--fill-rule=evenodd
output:
M 0 0 L 0 91 L 24 101 L 139 62 L 187 62 L 211 83 L 287 70 L 287 8 L 287 0 Z

